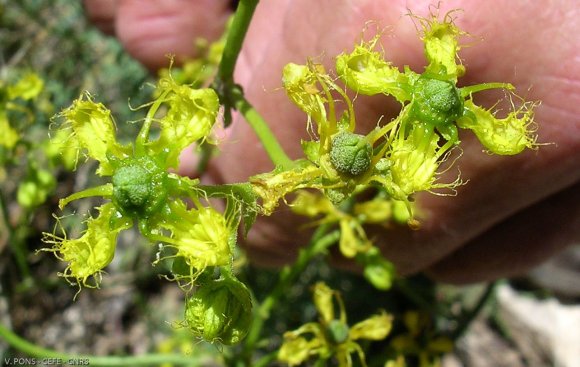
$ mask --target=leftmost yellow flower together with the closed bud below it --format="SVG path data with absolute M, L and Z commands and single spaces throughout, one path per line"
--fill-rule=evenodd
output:
M 45 233 L 44 242 L 51 245 L 46 250 L 67 262 L 61 274 L 66 279 L 98 287 L 119 233 L 136 225 L 147 239 L 162 244 L 156 262 L 172 261 L 170 278 L 188 293 L 184 325 L 210 341 L 236 343 L 251 320 L 249 291 L 231 275 L 239 205 L 222 214 L 206 204 L 208 193 L 198 180 L 170 172 L 185 147 L 208 138 L 218 97 L 212 89 L 178 85 L 171 77 L 159 81 L 156 96 L 146 105 L 149 109 L 134 143 L 116 139 L 111 112 L 88 93 L 58 116 L 56 147 L 74 157 L 73 166 L 81 155 L 95 159 L 97 174 L 110 177 L 110 182 L 61 199 L 61 209 L 90 196 L 108 202 L 86 221 L 80 238 Z M 154 135 L 151 130 L 157 127 Z M 191 296 L 194 285 L 197 290 Z M 216 311 L 213 298 L 224 313 Z

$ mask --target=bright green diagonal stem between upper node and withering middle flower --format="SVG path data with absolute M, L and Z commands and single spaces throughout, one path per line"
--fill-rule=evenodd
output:
M 272 133 L 272 130 L 260 114 L 252 107 L 252 105 L 244 98 L 242 93 L 234 93 L 234 106 L 236 110 L 240 111 L 248 124 L 254 129 L 254 132 L 260 139 L 262 146 L 266 150 L 266 154 L 270 157 L 272 163 L 282 169 L 288 169 L 294 164 L 293 161 L 286 155 L 284 149 L 278 142 L 278 139 Z

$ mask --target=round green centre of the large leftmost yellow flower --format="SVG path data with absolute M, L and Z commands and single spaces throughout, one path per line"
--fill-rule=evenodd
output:
M 148 217 L 160 209 L 167 198 L 167 173 L 149 157 L 129 158 L 115 169 L 113 202 L 133 217 Z

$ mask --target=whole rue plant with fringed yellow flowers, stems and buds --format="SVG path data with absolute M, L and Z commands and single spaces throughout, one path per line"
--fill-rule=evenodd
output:
M 299 365 L 317 359 L 318 365 L 335 360 L 340 366 L 351 366 L 353 355 L 366 365 L 363 341 L 386 339 L 392 316 L 379 311 L 349 324 L 341 294 L 323 283 L 314 286 L 317 322 L 287 331 L 275 353 L 256 359 L 255 350 L 262 345 L 264 325 L 275 306 L 306 265 L 327 254 L 331 246 L 337 245 L 344 257 L 357 261 L 376 288 L 389 289 L 395 281 L 394 267 L 373 245 L 365 225 L 388 229 L 407 223 L 417 229 L 421 219 L 420 208 L 414 205 L 417 193 L 454 193 L 463 183 L 461 178 L 440 182 L 439 174 L 443 162 L 460 155 L 456 153 L 458 129 L 473 131 L 490 153 L 513 155 L 534 148 L 535 103 L 512 104 L 503 118 L 493 109 L 477 106 L 473 95 L 488 89 L 504 89 L 511 99 L 518 98 L 507 83 L 458 87 L 465 73 L 457 55 L 463 32 L 449 14 L 441 21 L 436 16 L 413 15 L 421 26 L 428 62 L 422 72 L 400 70 L 386 60 L 379 49 L 380 35 L 336 56 L 335 71 L 310 60 L 284 67 L 282 84 L 289 99 L 304 111 L 311 137 L 302 142 L 303 158 L 291 160 L 233 79 L 257 4 L 256 0 L 240 2 L 225 46 L 211 48 L 208 59 L 213 66 L 194 68 L 198 81 L 216 74 L 211 87 L 201 88 L 205 84 L 201 82 L 180 84 L 171 71 L 163 74 L 154 100 L 140 107 L 147 112 L 139 120 L 141 128 L 133 142 L 117 139 L 111 112 L 88 93 L 56 117 L 54 144 L 48 151 L 60 152 L 71 169 L 82 157 L 96 160 L 97 175 L 108 182 L 60 200 L 61 209 L 95 196 L 105 203 L 88 214 L 86 229 L 78 238 L 70 238 L 57 219 L 55 231 L 44 234 L 49 245 L 45 251 L 66 263 L 60 275 L 79 290 L 98 287 L 115 254 L 119 233 L 135 226 L 159 245 L 153 264 L 167 264 L 167 278 L 185 293 L 184 317 L 178 326 L 213 343 L 243 342 L 224 354 L 232 365 L 264 366 L 273 359 Z M 222 55 L 219 65 L 218 55 Z M 393 120 L 377 121 L 372 130 L 361 131 L 349 97 L 353 93 L 390 96 L 400 103 L 401 111 Z M 220 108 L 226 127 L 232 109 L 245 117 L 276 166 L 272 172 L 249 177 L 248 182 L 213 186 L 173 173 L 185 147 L 213 142 L 211 132 Z M 225 200 L 224 210 L 210 204 L 215 197 Z M 280 272 L 272 291 L 256 300 L 234 271 L 238 233 L 245 235 L 257 215 L 271 215 L 281 201 L 312 218 L 317 229 L 296 262 Z M 392 340 L 395 349 L 400 347 L 399 355 L 415 353 L 428 363 L 436 360 L 417 351 L 421 346 L 413 337 L 420 328 L 406 324 L 411 336 Z M 429 353 L 442 352 L 426 348 Z M 386 365 L 403 366 L 400 356 L 388 359 Z

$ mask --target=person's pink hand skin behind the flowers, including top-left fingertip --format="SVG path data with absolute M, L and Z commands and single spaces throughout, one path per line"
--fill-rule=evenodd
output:
M 429 1 L 262 1 L 248 32 L 236 80 L 293 158 L 301 156 L 306 116 L 281 90 L 288 62 L 314 57 L 332 70 L 332 56 L 348 52 L 360 40 L 368 20 L 392 25 L 382 47 L 394 65 L 423 70 L 422 44 L 409 12 L 427 17 Z M 435 2 L 436 3 L 436 2 Z M 193 56 L 195 36 L 216 38 L 231 9 L 227 1 L 86 0 L 87 14 L 116 35 L 128 52 L 151 70 L 167 65 L 164 57 Z M 456 196 L 417 195 L 421 228 L 371 229 L 371 236 L 398 271 L 425 271 L 436 279 L 468 283 L 526 271 L 562 248 L 580 241 L 580 7 L 573 0 L 446 1 L 456 24 L 473 37 L 460 56 L 467 74 L 460 85 L 510 82 L 526 100 L 542 101 L 536 110 L 537 150 L 498 157 L 483 151 L 463 131 L 462 157 L 440 176 L 451 182 L 461 171 L 467 184 Z M 328 11 L 328 10 L 332 11 Z M 501 9 L 501 11 L 498 11 Z M 436 11 L 432 6 L 431 10 Z M 379 17 L 380 18 L 377 18 Z M 369 27 L 371 31 L 373 26 Z M 490 107 L 503 93 L 485 93 L 476 102 Z M 370 130 L 381 116 L 398 112 L 392 98 L 359 96 L 358 130 Z M 388 121 L 388 120 L 387 120 Z M 236 116 L 211 163 L 209 182 L 246 181 L 273 167 L 254 133 Z M 192 174 L 191 160 L 182 172 Z M 259 264 L 291 261 L 308 238 L 296 231 L 300 219 L 280 209 L 261 218 L 246 241 Z M 337 260 L 340 264 L 342 260 Z M 348 266 L 348 265 L 345 265 Z

